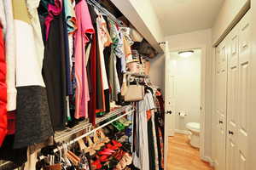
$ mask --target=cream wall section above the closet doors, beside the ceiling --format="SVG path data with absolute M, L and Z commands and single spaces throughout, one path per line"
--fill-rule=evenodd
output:
M 212 26 L 212 42 L 216 44 L 230 31 L 249 8 L 250 0 L 225 0 Z

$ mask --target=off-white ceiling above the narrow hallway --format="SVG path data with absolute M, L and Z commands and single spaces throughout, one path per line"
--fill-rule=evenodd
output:
M 224 0 L 151 0 L 165 36 L 211 28 Z

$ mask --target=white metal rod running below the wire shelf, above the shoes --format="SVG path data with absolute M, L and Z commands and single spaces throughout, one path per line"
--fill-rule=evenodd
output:
M 84 139 L 86 136 L 89 136 L 89 135 L 92 134 L 92 133 L 96 133 L 97 130 L 101 129 L 102 127 L 108 126 L 110 123 L 119 120 L 119 119 L 120 119 L 121 117 L 123 117 L 123 116 L 127 116 L 127 115 L 133 114 L 134 111 L 135 111 L 134 109 L 132 109 L 131 111 L 126 111 L 125 114 L 123 114 L 123 115 L 121 115 L 121 116 L 118 116 L 118 117 L 114 118 L 113 120 L 102 124 L 102 125 L 99 126 L 99 127 L 94 128 L 93 130 L 91 130 L 91 131 L 88 132 L 88 133 L 84 133 L 83 135 L 79 136 L 79 137 L 76 138 L 76 139 L 71 140 L 70 142 L 67 142 L 67 143 L 65 143 L 65 144 L 62 144 L 62 145 L 61 145 L 60 147 L 58 147 L 57 149 L 53 150 L 53 153 L 56 153 L 56 152 L 58 152 L 58 151 L 60 151 L 60 150 L 63 150 L 64 145 L 66 145 L 66 146 L 72 145 L 72 144 L 78 142 L 79 139 Z M 47 156 L 40 156 L 40 157 L 39 157 L 39 160 L 44 160 L 46 157 L 47 157 Z

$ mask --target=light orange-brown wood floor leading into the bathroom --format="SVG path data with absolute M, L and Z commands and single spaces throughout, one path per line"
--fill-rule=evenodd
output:
M 169 137 L 167 170 L 213 170 L 207 162 L 201 161 L 199 150 L 189 145 L 187 135 Z

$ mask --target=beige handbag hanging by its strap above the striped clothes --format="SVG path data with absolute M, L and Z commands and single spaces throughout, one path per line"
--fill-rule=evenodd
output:
M 125 91 L 125 101 L 139 101 L 144 98 L 144 86 L 139 85 L 137 82 L 136 85 L 131 85 L 130 80 L 127 80 L 127 89 Z

